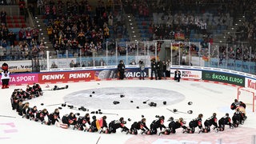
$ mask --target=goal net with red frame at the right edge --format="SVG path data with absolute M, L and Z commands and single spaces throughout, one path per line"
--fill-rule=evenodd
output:
M 238 101 L 246 104 L 247 110 L 255 111 L 255 99 L 254 90 L 245 87 L 238 87 Z

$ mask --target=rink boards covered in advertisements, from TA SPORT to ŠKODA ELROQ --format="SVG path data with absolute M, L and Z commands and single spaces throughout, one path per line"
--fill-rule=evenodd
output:
M 256 76 L 252 74 L 200 66 L 171 66 L 170 78 L 167 79 L 174 78 L 174 70 L 176 69 L 181 71 L 182 80 L 214 82 L 256 90 Z M 150 66 L 146 66 L 145 78 L 150 78 L 150 71 Z M 126 66 L 127 79 L 138 79 L 139 75 L 137 65 Z M 11 74 L 10 86 L 30 85 L 33 83 L 90 82 L 117 78 L 117 66 L 58 68 L 40 73 Z

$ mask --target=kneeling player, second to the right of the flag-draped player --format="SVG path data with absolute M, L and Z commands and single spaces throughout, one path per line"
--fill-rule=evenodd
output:
M 130 127 L 130 134 L 138 134 L 138 130 L 142 130 L 141 134 L 146 134 L 150 130 L 146 126 L 146 118 L 142 118 L 139 122 L 134 122 Z

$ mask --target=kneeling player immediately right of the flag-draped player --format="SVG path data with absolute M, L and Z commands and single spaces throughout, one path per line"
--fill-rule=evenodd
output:
M 116 133 L 118 128 L 122 128 L 122 132 L 126 132 L 129 134 L 129 129 L 125 126 L 126 121 L 123 118 L 119 118 L 119 120 L 114 120 L 109 124 L 109 133 Z

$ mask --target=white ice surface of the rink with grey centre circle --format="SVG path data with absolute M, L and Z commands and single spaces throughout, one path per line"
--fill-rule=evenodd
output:
M 66 86 L 64 90 L 50 90 L 55 85 Z M 167 119 L 171 116 L 174 119 L 184 118 L 186 126 L 191 119 L 197 118 L 198 114 L 203 114 L 202 121 L 209 118 L 214 112 L 217 118 L 222 118 L 226 113 L 231 116 L 234 111 L 230 110 L 230 104 L 237 96 L 237 87 L 224 86 L 210 82 L 172 80 L 122 80 L 122 81 L 97 81 L 97 82 L 77 82 L 77 83 L 58 83 L 41 85 L 44 92 L 42 97 L 30 100 L 30 106 L 38 106 L 38 110 L 46 108 L 52 113 L 55 108 L 61 105 L 49 106 L 67 102 L 76 107 L 84 106 L 91 111 L 102 110 L 107 114 L 90 114 L 101 118 L 106 115 L 106 122 L 118 120 L 124 117 L 127 121 L 126 126 L 130 128 L 133 122 L 146 118 L 146 125 L 156 119 L 155 115 L 164 115 L 165 126 L 168 126 Z M 14 110 L 11 110 L 10 95 L 14 89 L 26 89 L 26 86 L 10 86 L 8 90 L 1 90 L 0 96 L 0 115 L 15 118 L 0 117 L 0 143 L 252 143 L 252 135 L 256 134 L 256 116 L 252 113 L 250 106 L 246 109 L 247 120 L 244 125 L 230 129 L 226 126 L 223 132 L 215 133 L 212 130 L 207 134 L 182 134 L 181 129 L 176 134 L 170 135 L 132 135 L 121 133 L 98 134 L 79 130 L 62 129 L 57 126 L 42 125 L 41 122 L 33 122 L 26 118 L 21 118 Z M 93 94 L 94 91 L 94 94 Z M 124 97 L 120 97 L 123 94 Z M 114 105 L 113 102 L 120 102 Z M 132 101 L 132 102 L 131 102 Z M 163 102 L 166 101 L 166 105 Z M 144 102 L 144 103 L 143 103 Z M 146 102 L 146 104 L 145 104 Z M 149 106 L 148 103 L 155 102 L 157 106 Z M 188 105 L 188 102 L 193 102 Z M 41 106 L 41 103 L 44 105 Z M 172 113 L 166 109 L 177 109 L 182 113 Z M 193 114 L 187 114 L 192 110 Z M 62 107 L 61 116 L 70 112 L 85 115 L 85 111 L 72 110 Z M 128 118 L 131 121 L 128 121 Z M 219 140 L 221 139 L 221 142 Z

